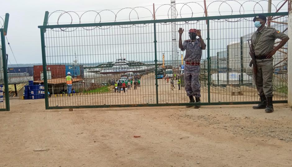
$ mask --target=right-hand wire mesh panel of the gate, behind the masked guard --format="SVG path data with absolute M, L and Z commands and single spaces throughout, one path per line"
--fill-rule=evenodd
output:
M 258 101 L 258 90 L 249 67 L 249 43 L 257 30 L 253 17 L 210 20 L 210 70 L 211 102 L 248 102 Z M 285 32 L 286 16 L 275 19 L 271 27 Z M 275 46 L 278 45 L 276 40 Z M 274 100 L 287 99 L 287 46 L 282 47 L 273 56 L 277 66 L 273 74 Z M 283 62 L 284 61 L 284 62 Z M 282 68 L 281 68 L 282 67 Z M 286 69 L 285 69 L 286 68 Z

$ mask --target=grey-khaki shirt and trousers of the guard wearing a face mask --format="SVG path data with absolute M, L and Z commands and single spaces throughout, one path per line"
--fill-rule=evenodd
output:
M 256 56 L 257 86 L 258 95 L 273 96 L 273 57 L 267 59 L 266 54 L 274 49 L 276 38 L 284 39 L 288 36 L 272 27 L 264 27 L 260 31 L 254 32 L 251 42 Z

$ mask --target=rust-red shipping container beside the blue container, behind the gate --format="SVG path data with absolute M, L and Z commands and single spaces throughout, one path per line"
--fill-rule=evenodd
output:
M 43 65 L 34 65 L 34 81 L 41 80 Z M 47 71 L 51 71 L 52 79 L 65 78 L 65 65 L 47 65 Z

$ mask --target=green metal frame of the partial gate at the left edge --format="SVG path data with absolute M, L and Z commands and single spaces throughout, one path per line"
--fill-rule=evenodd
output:
M 0 111 L 10 111 L 9 104 L 9 88 L 8 88 L 8 75 L 7 75 L 7 60 L 6 60 L 6 47 L 5 47 L 5 36 L 7 35 L 9 14 L 5 14 L 4 26 L 0 29 L 1 33 L 1 46 L 2 46 L 2 60 L 3 60 L 3 74 L 4 74 L 4 86 L 5 86 L 5 107 L 1 108 Z

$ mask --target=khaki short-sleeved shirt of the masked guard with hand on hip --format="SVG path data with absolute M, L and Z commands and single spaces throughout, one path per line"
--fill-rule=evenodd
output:
M 251 36 L 251 42 L 254 49 L 255 56 L 265 56 L 267 53 L 274 49 L 274 44 L 276 38 L 284 39 L 288 36 L 272 27 L 264 27 L 260 31 L 256 31 Z M 256 61 L 266 61 L 272 60 L 273 57 L 269 59 L 256 59 Z

